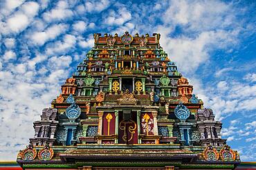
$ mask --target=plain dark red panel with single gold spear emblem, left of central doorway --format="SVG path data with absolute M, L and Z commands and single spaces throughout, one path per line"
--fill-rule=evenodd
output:
M 103 114 L 103 119 L 102 119 L 102 135 L 108 135 L 108 124 L 109 124 L 109 135 L 114 135 L 115 134 L 115 129 L 116 129 L 116 116 L 115 113 L 110 113 L 112 116 L 112 119 L 110 122 L 107 121 L 107 115 L 109 113 L 104 113 Z

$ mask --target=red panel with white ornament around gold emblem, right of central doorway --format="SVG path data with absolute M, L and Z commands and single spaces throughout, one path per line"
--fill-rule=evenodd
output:
M 145 114 L 149 115 L 149 120 L 146 123 L 145 121 Z M 154 122 L 153 122 L 153 115 L 152 113 L 143 113 L 140 115 L 140 133 L 147 135 L 154 135 Z

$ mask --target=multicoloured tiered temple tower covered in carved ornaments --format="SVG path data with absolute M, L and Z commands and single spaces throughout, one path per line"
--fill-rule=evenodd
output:
M 235 169 L 221 122 L 159 44 L 160 34 L 94 34 L 95 44 L 19 151 L 23 169 Z

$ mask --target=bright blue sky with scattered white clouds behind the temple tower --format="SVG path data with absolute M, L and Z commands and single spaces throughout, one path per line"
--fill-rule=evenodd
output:
M 243 161 L 256 158 L 255 1 L 0 1 L 0 160 L 15 160 L 33 121 L 93 46 L 93 32 L 161 33 L 161 46 L 223 122 Z

